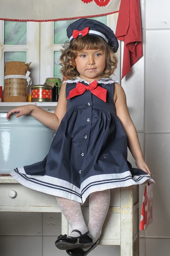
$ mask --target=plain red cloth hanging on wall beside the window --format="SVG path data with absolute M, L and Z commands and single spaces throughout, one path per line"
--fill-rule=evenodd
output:
M 123 78 L 143 55 L 139 0 L 121 0 L 115 35 L 124 41 Z

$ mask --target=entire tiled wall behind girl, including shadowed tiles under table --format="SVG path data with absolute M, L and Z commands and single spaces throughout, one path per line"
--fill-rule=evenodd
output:
M 144 56 L 121 83 L 141 147 L 156 181 L 154 222 L 146 232 L 140 233 L 140 256 L 169 256 L 170 1 L 140 0 L 140 5 Z M 132 157 L 129 158 L 134 164 Z M 143 186 L 140 198 L 142 193 Z M 1 213 L 0 256 L 66 255 L 54 244 L 60 233 L 60 214 Z M 120 247 L 98 246 L 91 255 L 120 256 Z

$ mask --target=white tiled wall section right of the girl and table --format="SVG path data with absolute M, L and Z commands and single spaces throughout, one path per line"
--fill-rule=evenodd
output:
M 169 256 L 170 1 L 141 0 L 140 4 L 144 56 L 122 80 L 131 117 L 140 143 L 144 137 L 146 161 L 156 181 L 153 224 L 140 232 L 140 256 Z

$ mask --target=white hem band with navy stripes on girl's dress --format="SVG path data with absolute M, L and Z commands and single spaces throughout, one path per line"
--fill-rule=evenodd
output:
M 123 173 L 123 174 L 125 174 L 125 173 Z M 67 198 L 69 200 L 74 200 L 74 201 L 77 201 L 77 202 L 79 202 L 81 204 L 83 204 L 86 201 L 86 198 L 92 192 L 102 191 L 102 190 L 106 190 L 106 189 L 113 189 L 113 188 L 118 188 L 118 187 L 127 187 L 127 186 L 142 184 L 142 183 L 146 182 L 147 180 L 150 183 L 154 183 L 153 179 L 149 178 L 148 175 L 143 176 L 141 178 L 141 180 L 139 180 L 137 182 L 135 182 L 132 177 L 130 177 L 128 180 L 126 180 L 127 177 L 121 177 L 120 178 L 121 180 L 119 180 L 118 182 L 114 182 L 114 181 L 113 182 L 109 182 L 110 178 L 108 178 L 108 176 L 110 176 L 110 175 L 107 175 L 107 179 L 106 179 L 105 183 L 104 183 L 104 179 L 101 179 L 101 177 L 99 179 L 99 176 L 106 176 L 106 175 L 95 175 L 95 176 L 92 176 L 92 177 L 98 176 L 98 177 L 96 177 L 97 179 L 95 179 L 95 183 L 92 184 L 91 186 L 88 186 L 88 188 L 83 192 L 82 199 L 81 199 L 81 196 L 75 195 L 74 191 L 71 189 L 74 185 L 72 185 L 69 182 L 67 182 L 67 184 L 69 185 L 69 188 L 73 192 L 70 192 L 69 190 L 66 191 L 68 189 L 68 188 L 66 189 L 66 187 L 65 187 L 65 191 L 64 191 L 63 189 L 56 188 L 55 186 L 52 186 L 52 184 L 49 187 L 45 183 L 41 183 L 41 181 L 39 179 L 40 177 L 41 177 L 41 179 L 42 179 L 42 177 L 45 178 L 44 180 L 46 180 L 47 177 L 48 177 L 48 179 L 51 178 L 52 180 L 56 179 L 56 178 L 53 178 L 53 177 L 49 177 L 47 175 L 44 175 L 44 176 L 35 176 L 34 175 L 34 177 L 38 178 L 38 179 L 36 179 L 37 183 L 35 183 L 33 181 L 33 179 L 28 177 L 28 176 L 33 177 L 32 175 L 24 175 L 24 176 L 26 176 L 28 178 L 28 180 L 26 180 L 26 177 L 24 177 L 24 176 L 21 177 L 20 174 L 17 173 L 16 171 L 12 171 L 10 173 L 10 175 L 12 175 L 14 177 L 14 179 L 17 180 L 20 184 L 22 184 L 23 186 L 29 187 L 30 189 L 34 189 L 34 190 L 37 190 L 37 191 L 40 191 L 40 192 L 43 192 L 43 193 L 46 193 L 46 194 L 54 195 L 54 196 L 59 196 L 59 197 Z M 117 174 L 117 175 L 120 175 L 120 174 Z M 136 177 L 139 177 L 139 176 L 134 176 L 134 178 L 136 178 Z M 60 181 L 60 183 L 58 183 L 58 184 L 60 184 L 59 186 L 62 186 L 64 180 L 58 179 L 58 181 Z M 98 183 L 98 182 L 100 182 L 100 183 Z M 81 186 L 81 188 L 82 188 L 82 186 Z M 81 194 L 82 190 L 79 190 L 80 194 Z

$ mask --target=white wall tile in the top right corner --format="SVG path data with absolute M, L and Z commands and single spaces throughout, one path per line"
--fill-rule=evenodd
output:
M 170 28 L 170 1 L 146 0 L 146 29 Z

